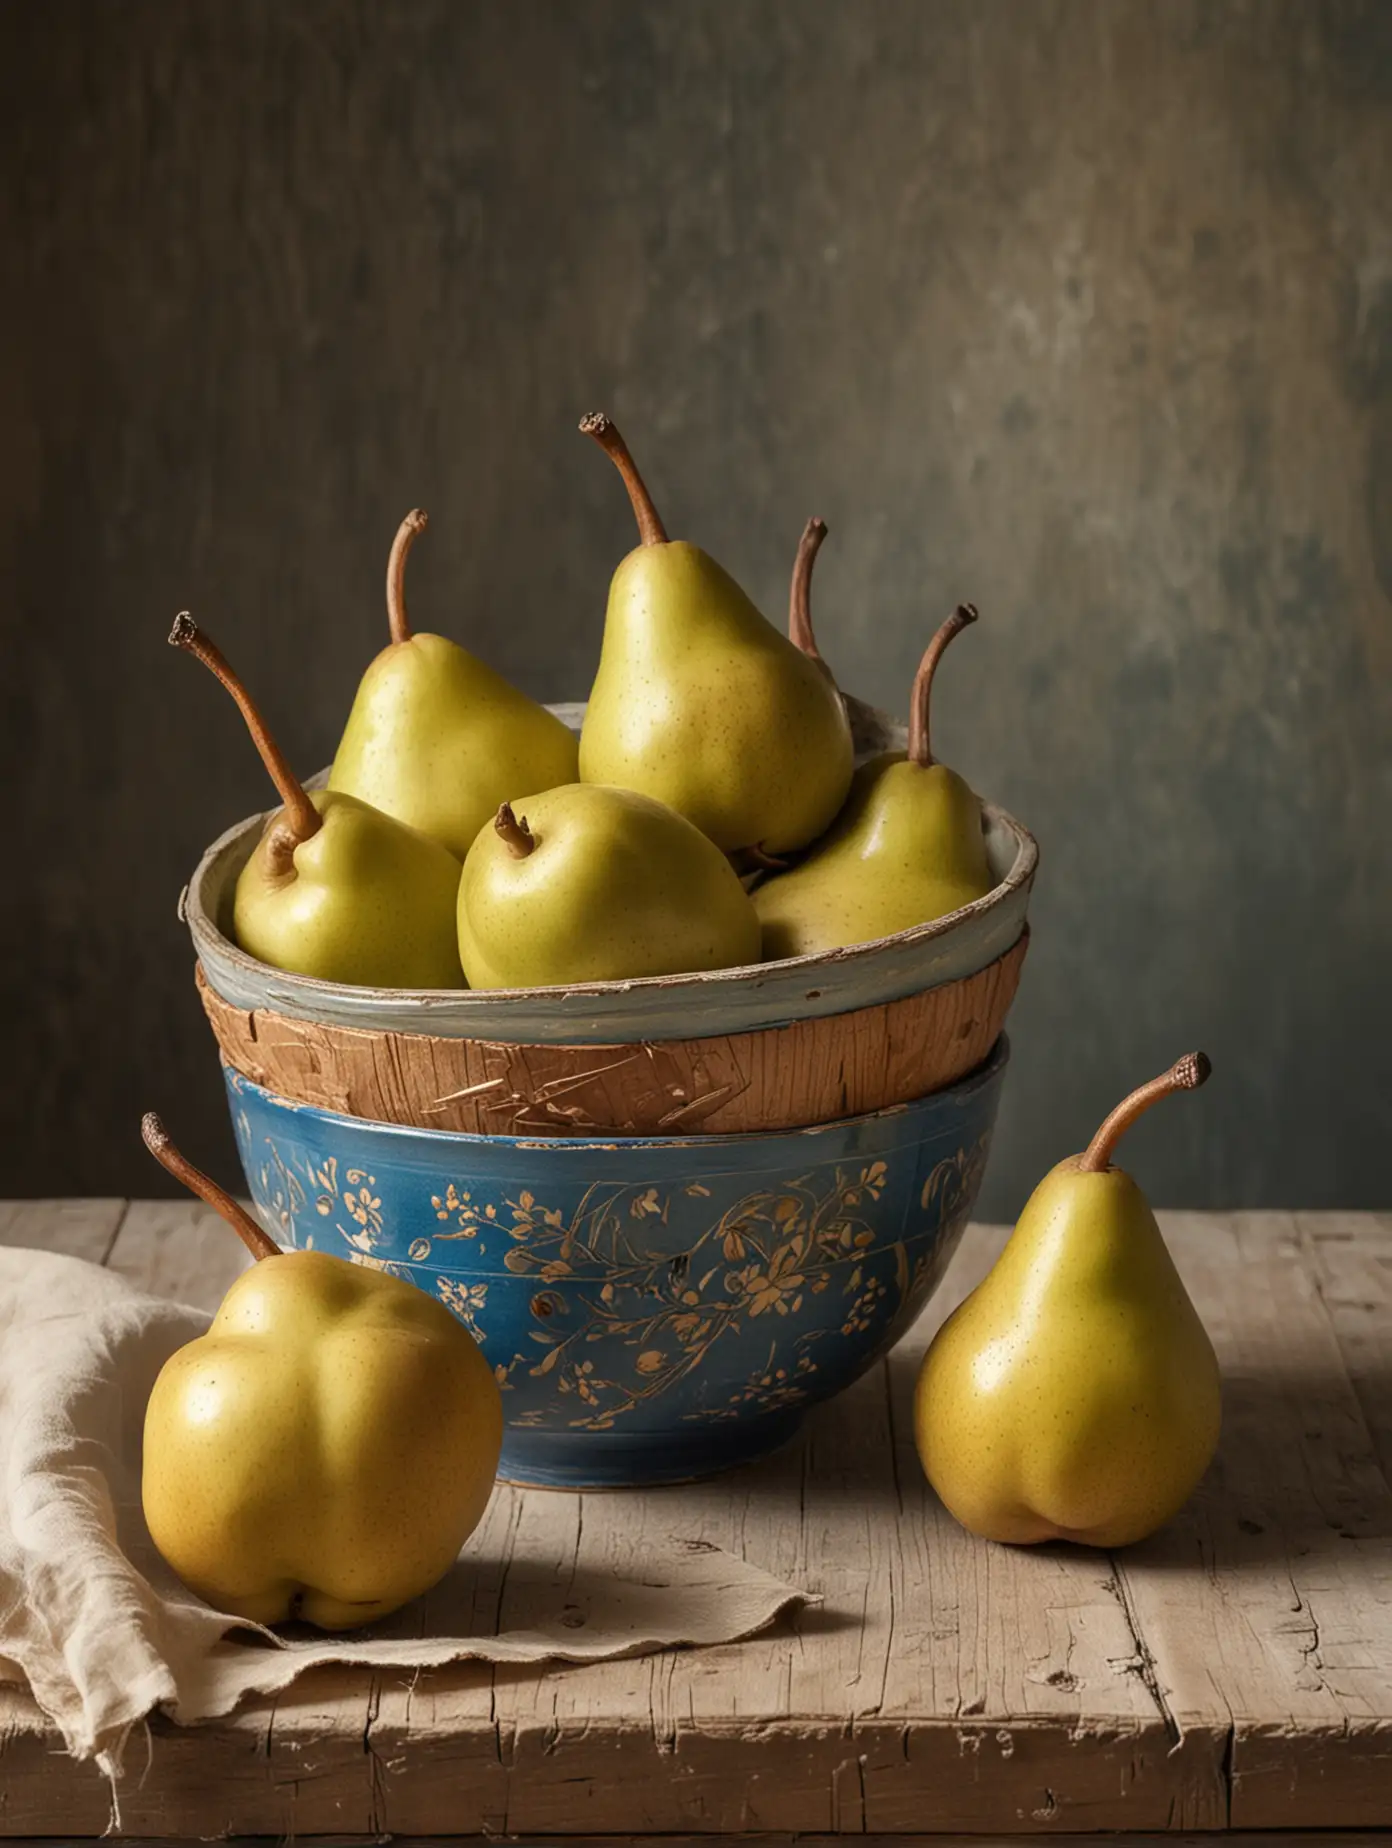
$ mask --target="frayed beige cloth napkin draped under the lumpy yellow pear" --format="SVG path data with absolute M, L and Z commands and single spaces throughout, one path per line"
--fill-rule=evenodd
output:
M 227 1713 L 318 1663 L 603 1661 L 732 1643 L 804 1593 L 704 1541 L 649 1534 L 556 1576 L 529 1558 L 518 1501 L 490 1515 L 427 1599 L 349 1637 L 244 1626 L 187 1591 L 140 1517 L 140 1429 L 159 1368 L 209 1318 L 50 1251 L 0 1249 L 0 1678 L 24 1680 L 70 1752 L 109 1774 L 152 1708 Z M 508 1615 L 497 1604 L 507 1550 Z

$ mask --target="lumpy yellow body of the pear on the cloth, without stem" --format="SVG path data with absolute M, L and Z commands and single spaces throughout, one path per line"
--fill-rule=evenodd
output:
M 292 1251 L 238 1277 L 165 1364 L 140 1495 L 161 1554 L 209 1604 L 349 1630 L 444 1576 L 501 1443 L 497 1382 L 442 1303 Z

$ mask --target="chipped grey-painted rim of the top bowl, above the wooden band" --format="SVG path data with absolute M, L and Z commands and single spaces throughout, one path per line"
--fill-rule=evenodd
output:
M 582 706 L 553 710 L 579 728 Z M 902 748 L 904 728 L 885 713 L 854 699 L 847 699 L 847 710 L 860 758 L 876 750 Z M 673 1042 L 739 1039 L 771 1027 L 878 1011 L 922 996 L 926 991 L 982 976 L 991 965 L 1006 959 L 1007 952 L 1020 944 L 1039 861 L 1039 848 L 1028 830 L 987 802 L 983 830 L 987 859 L 996 876 L 995 889 L 950 917 L 874 942 L 823 955 L 788 957 L 780 963 L 754 963 L 747 968 L 647 976 L 638 981 L 593 981 L 571 989 L 359 989 L 270 968 L 231 941 L 233 889 L 263 822 L 264 815 L 251 815 L 214 841 L 179 906 L 207 992 L 233 1015 L 248 1016 L 240 1026 L 231 1015 L 214 1016 L 214 1024 L 224 1020 L 233 1044 L 242 1048 L 248 1035 L 259 1033 L 261 1022 L 274 1016 L 277 1022 L 298 1020 L 325 1029 L 410 1035 L 423 1040 L 477 1040 L 484 1048 L 545 1046 L 571 1053 L 584 1048 L 586 1059 L 593 1063 L 593 1057 L 603 1057 L 604 1050 L 614 1046 L 667 1048 Z M 959 1003 L 959 1013 L 948 1007 L 948 1016 L 958 1026 L 969 1016 L 976 1020 L 978 996 L 982 992 L 998 996 L 1006 981 L 1007 970 L 998 972 L 995 987 L 987 983 L 983 991 L 974 991 L 972 998 Z M 898 1029 L 908 1024 L 908 1016 L 904 1020 L 897 1016 L 897 1040 Z M 885 1026 L 887 1016 L 874 1015 L 860 1031 L 874 1033 Z M 939 1031 L 941 1022 L 934 1020 L 932 1029 Z M 279 1033 L 279 1027 L 275 1031 Z M 845 1026 L 839 1031 L 854 1035 L 854 1029 Z M 309 1037 L 301 1044 L 312 1040 L 314 1037 Z M 303 1068 L 314 1055 L 294 1053 L 294 1059 Z M 492 1083 L 503 1076 L 488 1068 L 486 1055 L 481 1057 L 482 1066 L 470 1066 L 470 1055 L 460 1055 L 462 1070 L 479 1074 L 470 1079 L 471 1083 Z M 440 1103 L 444 1090 L 464 1088 L 453 1083 L 458 1070 L 457 1059 L 442 1087 L 427 1083 L 425 1090 L 431 1092 L 427 1101 Z M 545 1083 L 560 1076 L 556 1066 L 547 1066 Z M 275 1076 L 268 1072 L 268 1079 L 272 1077 Z M 721 1079 L 727 1081 L 728 1076 Z M 390 1083 L 390 1074 L 385 1083 Z M 686 1088 L 680 1076 L 677 1085 Z M 695 1092 L 688 1100 L 678 1100 L 671 1092 L 667 1096 L 667 1107 L 695 1100 Z M 438 1118 L 433 1122 L 438 1125 Z M 555 1122 L 549 1120 L 549 1125 L 555 1133 Z

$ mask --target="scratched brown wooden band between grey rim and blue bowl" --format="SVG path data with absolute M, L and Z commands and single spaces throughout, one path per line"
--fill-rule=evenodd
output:
M 922 994 L 760 1033 L 612 1046 L 370 1033 L 198 991 L 224 1059 L 257 1085 L 346 1116 L 473 1135 L 743 1135 L 860 1116 L 952 1085 L 1000 1033 L 1028 931 Z

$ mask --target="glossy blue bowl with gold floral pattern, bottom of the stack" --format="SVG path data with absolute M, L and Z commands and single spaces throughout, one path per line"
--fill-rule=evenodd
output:
M 503 1388 L 501 1475 L 584 1489 L 760 1456 L 885 1353 L 976 1201 L 1007 1057 L 815 1129 L 612 1142 L 372 1124 L 224 1070 L 281 1244 L 440 1297 Z

